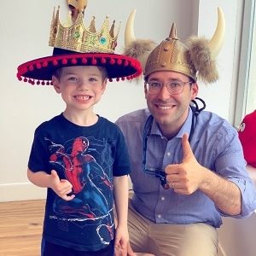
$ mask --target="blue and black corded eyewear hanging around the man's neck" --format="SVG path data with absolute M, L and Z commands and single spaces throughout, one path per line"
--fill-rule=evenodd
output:
M 196 100 L 198 100 L 202 103 L 202 105 L 203 105 L 202 108 L 199 108 L 199 105 L 197 104 Z M 189 133 L 189 143 L 194 134 L 196 118 L 201 113 L 201 111 L 204 110 L 206 107 L 207 107 L 206 103 L 201 98 L 195 97 L 195 100 L 191 101 L 189 108 L 191 108 L 191 110 L 192 110 L 193 117 L 192 117 L 192 122 L 191 122 L 191 129 L 190 129 L 190 133 Z M 166 172 L 162 168 L 149 168 L 149 169 L 146 168 L 148 137 L 151 134 L 153 119 L 154 119 L 154 117 L 152 115 L 149 115 L 148 119 L 146 120 L 146 123 L 144 125 L 144 128 L 143 128 L 143 172 L 147 173 L 149 175 L 154 175 L 155 177 L 159 177 L 162 187 L 164 189 L 169 189 L 170 186 L 166 182 Z M 149 126 L 149 128 L 148 128 L 148 132 L 147 132 L 146 130 L 147 130 L 148 126 Z

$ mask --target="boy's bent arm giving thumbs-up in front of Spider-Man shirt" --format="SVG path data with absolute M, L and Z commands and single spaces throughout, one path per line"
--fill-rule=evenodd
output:
M 72 192 L 72 184 L 67 179 L 61 179 L 55 170 L 52 170 L 50 174 L 40 171 L 32 172 L 27 169 L 28 179 L 35 185 L 41 188 L 50 188 L 55 191 L 62 199 L 70 201 L 75 195 L 67 195 Z

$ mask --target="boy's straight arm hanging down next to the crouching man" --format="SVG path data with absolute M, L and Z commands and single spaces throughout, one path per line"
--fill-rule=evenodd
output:
M 117 213 L 117 229 L 115 235 L 115 247 L 127 253 L 127 243 L 129 241 L 127 216 L 128 216 L 128 177 L 113 177 L 113 196 Z

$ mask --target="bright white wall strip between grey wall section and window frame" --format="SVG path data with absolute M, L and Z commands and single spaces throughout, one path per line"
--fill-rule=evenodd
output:
M 216 112 L 225 119 L 230 117 L 230 100 L 232 92 L 232 77 L 234 72 L 234 50 L 236 45 L 236 19 L 237 1 L 200 1 L 198 33 L 205 34 L 207 38 L 212 36 L 212 30 L 216 26 L 217 13 L 214 10 L 220 6 L 223 9 L 226 21 L 226 34 L 223 49 L 218 55 L 217 65 L 220 82 L 211 85 L 201 84 L 199 96 L 207 102 L 207 109 Z M 209 11 L 212 17 L 209 19 Z M 214 19 L 215 18 L 215 19 Z M 205 21 L 207 20 L 207 22 Z M 236 65 L 236 63 L 235 63 Z

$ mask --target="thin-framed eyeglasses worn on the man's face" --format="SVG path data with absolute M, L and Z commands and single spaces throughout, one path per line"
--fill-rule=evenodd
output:
M 183 92 L 185 84 L 193 84 L 193 82 L 183 82 L 181 80 L 174 80 L 166 84 L 158 81 L 149 81 L 145 83 L 149 94 L 159 94 L 163 86 L 166 86 L 168 92 L 172 95 L 177 95 Z

